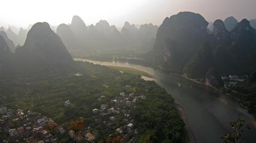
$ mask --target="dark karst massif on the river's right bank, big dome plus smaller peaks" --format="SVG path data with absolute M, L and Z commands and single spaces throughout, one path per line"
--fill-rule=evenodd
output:
M 256 32 L 252 24 L 246 19 L 239 23 L 232 17 L 225 22 L 218 19 L 213 32 L 207 30 L 207 24 L 191 12 L 165 18 L 148 61 L 215 87 L 223 85 L 220 75 L 252 73 L 256 68 Z

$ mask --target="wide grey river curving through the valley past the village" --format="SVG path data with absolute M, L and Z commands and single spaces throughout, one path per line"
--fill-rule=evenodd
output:
M 221 142 L 221 136 L 230 130 L 230 121 L 240 116 L 249 124 L 250 130 L 244 129 L 245 142 L 256 142 L 256 120 L 253 115 L 218 91 L 185 79 L 179 75 L 164 73 L 142 65 L 126 62 L 98 62 L 86 59 L 74 59 L 100 65 L 127 67 L 144 71 L 154 76 L 154 80 L 164 86 L 173 96 L 175 103 L 183 107 L 188 124 L 198 143 Z M 180 86 L 179 86 L 180 85 Z

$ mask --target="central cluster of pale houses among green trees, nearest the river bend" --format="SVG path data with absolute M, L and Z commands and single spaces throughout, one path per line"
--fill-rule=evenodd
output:
M 105 98 L 101 96 L 100 99 Z M 97 137 L 119 135 L 122 142 L 136 142 L 138 130 L 131 117 L 132 108 L 136 108 L 139 100 L 146 99 L 145 95 L 135 95 L 134 93 L 115 96 L 107 103 L 101 104 L 99 108 L 91 109 L 92 122 L 85 126 L 83 138 L 88 141 L 96 141 Z M 73 131 L 69 131 L 73 137 Z

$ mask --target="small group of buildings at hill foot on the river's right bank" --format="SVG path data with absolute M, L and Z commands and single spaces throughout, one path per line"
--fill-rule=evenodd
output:
M 234 88 L 235 85 L 239 82 L 243 82 L 245 79 L 248 78 L 248 75 L 238 76 L 238 75 L 229 75 L 229 76 L 222 76 L 221 79 L 224 82 L 225 88 Z

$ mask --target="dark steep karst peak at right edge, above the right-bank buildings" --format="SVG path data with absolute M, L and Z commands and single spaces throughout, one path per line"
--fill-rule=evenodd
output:
M 224 68 L 224 72 L 230 70 L 230 73 L 251 73 L 255 69 L 256 60 L 256 33 L 249 21 L 243 19 L 230 32 L 232 44 L 230 44 L 227 53 L 230 64 Z M 229 67 L 229 68 L 228 68 Z

